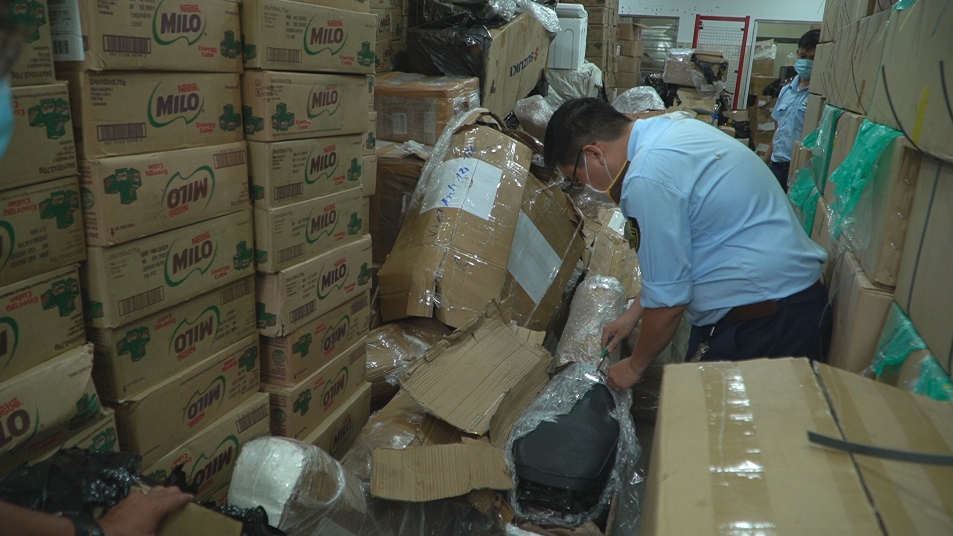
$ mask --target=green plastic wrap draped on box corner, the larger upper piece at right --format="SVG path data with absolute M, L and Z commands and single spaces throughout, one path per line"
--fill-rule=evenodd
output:
M 829 180 L 835 190 L 830 203 L 830 237 L 839 251 L 868 247 L 874 219 L 871 190 L 888 186 L 875 177 L 883 166 L 889 169 L 889 148 L 901 135 L 864 119 L 850 154 L 831 172 Z

